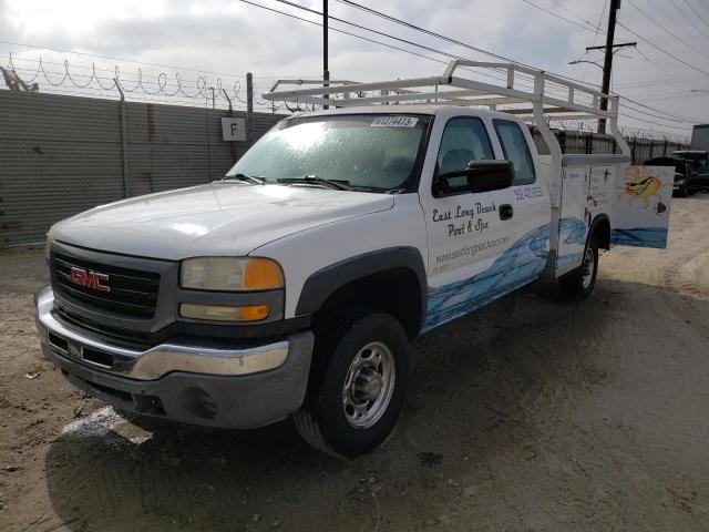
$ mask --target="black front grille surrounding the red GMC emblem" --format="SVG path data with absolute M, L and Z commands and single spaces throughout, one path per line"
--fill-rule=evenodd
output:
M 157 304 L 160 274 L 142 272 L 52 253 L 55 288 L 69 299 L 131 318 L 152 318 Z M 107 291 L 82 286 L 72 280 L 72 267 L 109 276 Z

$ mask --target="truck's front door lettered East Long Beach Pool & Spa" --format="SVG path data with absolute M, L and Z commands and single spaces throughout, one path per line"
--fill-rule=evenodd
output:
M 476 116 L 444 125 L 435 175 L 464 170 L 470 161 L 494 160 L 489 129 Z M 425 181 L 425 180 L 424 180 Z M 429 247 L 429 304 L 423 330 L 467 314 L 507 291 L 502 254 L 515 231 L 512 187 L 434 197 L 421 191 Z

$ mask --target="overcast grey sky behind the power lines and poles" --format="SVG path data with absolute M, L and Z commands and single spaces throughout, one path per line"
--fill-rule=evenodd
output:
M 294 1 L 316 10 L 322 6 L 321 1 Z M 318 20 L 316 16 L 276 0 L 254 2 Z M 598 66 L 587 63 L 569 65 L 568 62 L 575 59 L 603 62 L 602 52 L 586 54 L 585 47 L 605 43 L 605 37 L 596 34 L 589 25 L 595 28 L 600 20 L 600 29 L 606 28 L 606 0 L 359 0 L 359 3 L 500 55 L 589 83 L 600 83 L 602 70 Z M 606 12 L 603 12 L 604 4 Z M 336 0 L 330 0 L 330 14 L 448 53 L 490 60 L 481 53 L 402 28 Z M 688 135 L 691 122 L 709 122 L 709 1 L 623 0 L 619 21 L 643 39 L 691 65 L 681 64 L 618 27 L 616 42 L 639 42 L 637 50 L 626 49 L 616 54 L 613 89 L 654 109 L 634 104 L 636 110 L 626 110 L 621 123 L 629 127 Z M 338 22 L 331 22 L 331 28 L 446 60 L 434 52 L 362 29 Z M 165 91 L 172 92 L 176 89 L 175 73 L 179 72 L 184 91 L 195 93 L 196 80 L 201 75 L 196 71 L 209 72 L 202 74 L 208 86 L 216 86 L 217 79 L 220 79 L 228 89 L 243 80 L 246 72 L 253 72 L 257 88 L 265 90 L 276 76 L 321 75 L 321 33 L 317 25 L 238 0 L 0 0 L 0 64 L 7 64 L 12 53 L 18 72 L 32 79 L 41 57 L 53 82 L 61 81 L 62 63 L 68 60 L 78 84 L 86 80 L 79 74 L 90 73 L 86 66 L 95 63 L 106 84 L 117 65 L 125 86 L 137 80 L 140 68 L 147 90 L 156 90 L 157 76 L 165 72 Z M 330 33 L 333 79 L 374 81 L 432 75 L 442 72 L 443 68 L 431 59 L 336 31 Z M 41 74 L 37 81 L 41 91 L 82 92 L 70 86 L 69 80 L 58 89 L 51 89 Z M 95 82 L 83 90 L 85 94 L 102 92 Z M 244 93 L 239 94 L 243 96 Z M 141 96 L 135 93 L 129 95 L 131 98 Z M 160 98 L 171 101 L 166 96 Z M 641 114 L 644 112 L 655 116 Z M 665 112 L 672 113 L 674 119 Z M 688 122 L 677 122 L 685 119 Z

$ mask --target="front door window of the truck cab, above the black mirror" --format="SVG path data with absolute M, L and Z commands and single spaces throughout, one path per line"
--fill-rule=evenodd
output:
M 474 116 L 459 116 L 445 124 L 436 164 L 436 174 L 465 170 L 470 161 L 495 158 L 485 126 Z

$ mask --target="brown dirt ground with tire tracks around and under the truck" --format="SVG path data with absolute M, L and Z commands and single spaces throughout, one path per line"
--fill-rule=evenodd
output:
M 0 253 L 0 530 L 709 530 L 709 196 L 667 250 L 604 255 L 593 297 L 534 286 L 414 342 L 371 456 L 290 421 L 147 432 L 40 356 L 41 249 Z

